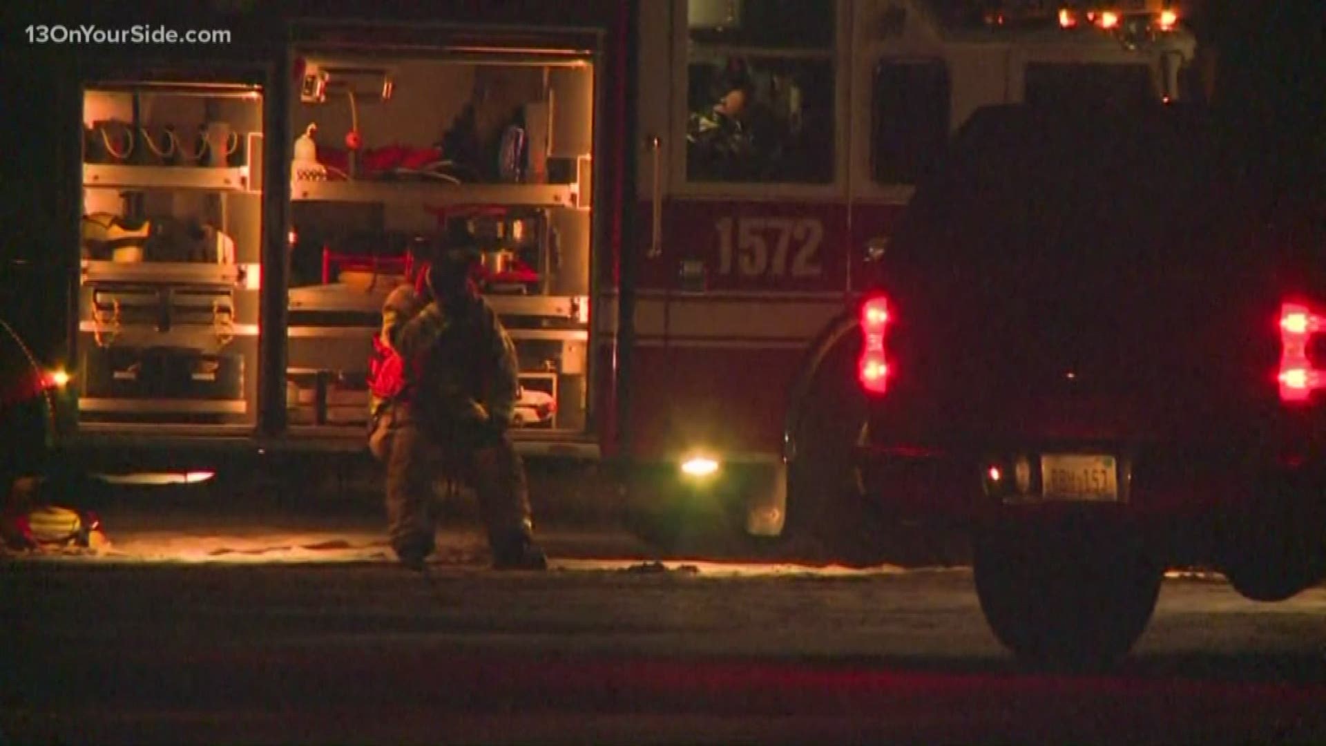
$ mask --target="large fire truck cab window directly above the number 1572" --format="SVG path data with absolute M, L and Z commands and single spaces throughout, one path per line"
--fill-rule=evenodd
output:
M 831 182 L 831 8 L 692 0 L 687 11 L 687 178 Z

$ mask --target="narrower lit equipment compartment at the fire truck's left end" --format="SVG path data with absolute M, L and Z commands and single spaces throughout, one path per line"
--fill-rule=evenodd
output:
M 91 82 L 82 127 L 80 429 L 252 430 L 261 88 Z

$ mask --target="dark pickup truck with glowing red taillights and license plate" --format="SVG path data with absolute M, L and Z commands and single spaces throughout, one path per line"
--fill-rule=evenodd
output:
M 1175 564 L 1323 575 L 1326 226 L 1254 150 L 1187 108 L 989 109 L 878 261 L 865 494 L 969 522 L 1018 654 L 1126 653 Z

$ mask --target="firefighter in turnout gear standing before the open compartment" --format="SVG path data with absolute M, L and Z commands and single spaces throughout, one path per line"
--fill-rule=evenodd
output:
M 391 547 L 406 567 L 423 568 L 435 542 L 432 485 L 444 478 L 475 488 L 493 567 L 544 569 L 524 465 L 507 431 L 516 349 L 471 280 L 477 258 L 472 236 L 453 231 L 427 269 L 426 292 L 402 285 L 383 305 L 382 341 L 400 356 L 403 378 L 374 447 L 387 466 Z

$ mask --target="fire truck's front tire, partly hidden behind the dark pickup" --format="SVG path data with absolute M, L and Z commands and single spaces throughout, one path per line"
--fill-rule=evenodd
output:
M 812 378 L 788 465 L 784 546 L 793 554 L 854 565 L 878 564 L 887 554 L 880 511 L 861 485 L 855 451 L 865 437 L 866 397 L 857 386 L 859 335 L 847 335 Z

